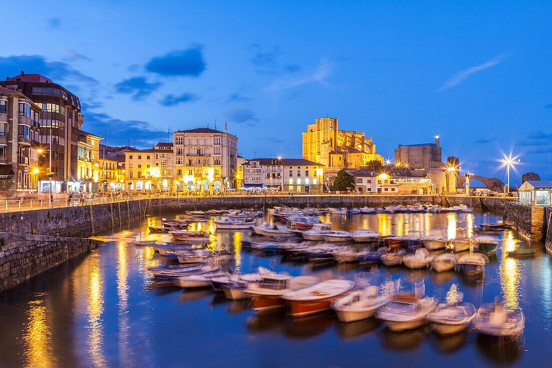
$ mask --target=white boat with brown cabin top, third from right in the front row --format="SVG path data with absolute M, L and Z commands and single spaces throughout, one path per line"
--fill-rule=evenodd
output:
M 426 316 L 437 306 L 437 299 L 417 297 L 411 293 L 399 293 L 376 312 L 392 331 L 410 330 L 426 322 Z

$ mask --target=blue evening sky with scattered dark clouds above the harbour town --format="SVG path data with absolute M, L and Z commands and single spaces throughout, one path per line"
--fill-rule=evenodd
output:
M 442 137 L 443 160 L 552 178 L 552 2 L 4 2 L 2 78 L 40 72 L 84 103 L 83 129 L 147 148 L 214 127 L 242 156 L 301 156 L 316 118 L 378 153 Z M 518 181 L 519 184 L 519 181 Z M 512 184 L 513 185 L 513 184 Z

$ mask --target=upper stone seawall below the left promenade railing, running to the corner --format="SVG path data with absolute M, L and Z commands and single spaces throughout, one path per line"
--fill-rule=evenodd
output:
M 144 215 L 148 199 L 0 214 L 0 232 L 88 237 Z

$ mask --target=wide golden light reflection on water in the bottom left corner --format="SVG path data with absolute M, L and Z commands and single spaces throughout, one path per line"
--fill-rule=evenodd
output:
M 46 307 L 42 300 L 29 302 L 28 323 L 23 335 L 25 342 L 25 367 L 51 367 L 56 365 L 52 352 L 51 332 L 46 319 Z

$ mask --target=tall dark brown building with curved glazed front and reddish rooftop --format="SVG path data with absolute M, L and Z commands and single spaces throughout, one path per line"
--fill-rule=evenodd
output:
M 54 176 L 44 170 L 39 175 L 39 191 L 52 192 L 78 190 L 78 131 L 84 116 L 81 102 L 75 94 L 40 74 L 25 74 L 0 81 L 0 86 L 19 91 L 42 108 L 40 113 L 39 142 L 45 154 L 39 156 L 40 166 L 49 167 Z M 51 141 L 50 141 L 51 136 Z

